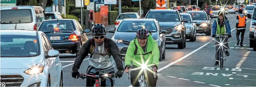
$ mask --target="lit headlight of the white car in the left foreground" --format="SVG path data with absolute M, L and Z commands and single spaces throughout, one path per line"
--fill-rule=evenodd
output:
M 42 73 L 43 69 L 44 69 L 44 65 L 45 65 L 44 63 L 36 64 L 36 65 L 28 68 L 27 70 L 25 70 L 24 73 L 29 74 L 29 75 Z

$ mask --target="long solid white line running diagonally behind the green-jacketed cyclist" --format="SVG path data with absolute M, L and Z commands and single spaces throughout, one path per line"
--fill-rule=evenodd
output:
M 161 70 L 163 70 L 163 69 L 165 69 L 165 68 L 167 68 L 167 67 L 169 67 L 169 66 L 171 66 L 171 65 L 173 65 L 173 64 L 175 64 L 175 63 L 177 63 L 177 62 L 179 62 L 179 61 L 181 61 L 181 60 L 183 60 L 183 59 L 185 59 L 185 58 L 187 58 L 187 57 L 190 56 L 191 54 L 195 53 L 196 51 L 198 51 L 198 50 L 200 50 L 201 48 L 203 48 L 204 46 L 206 46 L 207 44 L 209 44 L 209 43 L 206 43 L 205 45 L 203 45 L 203 46 L 197 48 L 196 50 L 190 52 L 189 54 L 183 56 L 182 58 L 176 60 L 175 62 L 172 62 L 172 63 L 170 63 L 169 65 L 166 65 L 166 66 L 164 66 L 164 67 L 158 69 L 157 71 L 159 72 L 159 71 L 161 71 Z

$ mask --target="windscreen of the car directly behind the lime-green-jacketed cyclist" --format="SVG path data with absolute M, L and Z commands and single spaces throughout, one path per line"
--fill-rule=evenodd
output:
M 150 32 L 157 32 L 157 27 L 155 22 L 143 22 L 143 21 L 125 21 L 121 22 L 121 24 L 118 26 L 117 31 L 118 32 L 136 32 L 138 29 L 146 28 Z

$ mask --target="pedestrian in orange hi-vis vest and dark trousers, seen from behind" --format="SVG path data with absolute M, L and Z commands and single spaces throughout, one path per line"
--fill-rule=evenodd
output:
M 244 16 L 242 9 L 239 9 L 238 13 L 239 14 L 236 16 L 236 39 L 237 39 L 236 45 L 239 45 L 239 42 L 240 42 L 240 46 L 242 47 L 243 41 L 244 41 L 244 32 L 246 28 L 246 16 Z M 241 33 L 241 41 L 239 39 L 240 33 Z

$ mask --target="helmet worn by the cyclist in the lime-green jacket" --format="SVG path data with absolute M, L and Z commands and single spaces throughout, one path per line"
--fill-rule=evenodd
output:
M 138 29 L 136 32 L 136 37 L 139 39 L 146 39 L 149 37 L 149 31 L 145 28 Z

